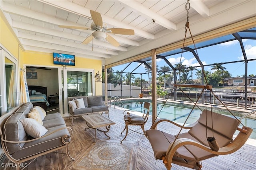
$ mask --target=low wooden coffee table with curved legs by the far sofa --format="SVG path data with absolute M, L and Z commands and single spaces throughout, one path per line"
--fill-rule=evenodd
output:
M 108 136 L 106 133 L 110 130 L 110 125 L 116 124 L 114 121 L 111 121 L 110 119 L 100 114 L 82 115 L 82 118 L 85 120 L 86 125 L 88 126 L 88 128 L 85 128 L 85 129 L 89 129 L 89 128 L 95 129 L 95 142 L 96 142 L 97 130 L 104 132 L 104 134 L 110 139 L 110 136 Z M 106 131 L 97 129 L 98 127 L 104 127 L 104 126 L 106 126 Z

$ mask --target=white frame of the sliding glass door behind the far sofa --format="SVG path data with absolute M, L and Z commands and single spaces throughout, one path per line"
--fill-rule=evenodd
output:
M 62 94 L 62 71 L 63 71 L 63 94 Z M 80 72 L 92 72 L 92 95 L 95 95 L 95 70 L 89 68 L 72 68 L 63 67 L 58 68 L 58 83 L 59 83 L 59 106 L 64 114 L 68 114 L 68 84 L 67 84 L 67 71 L 80 71 Z M 64 98 L 64 102 L 63 102 Z M 64 107 L 63 107 L 64 103 Z M 64 110 L 63 110 L 64 108 Z

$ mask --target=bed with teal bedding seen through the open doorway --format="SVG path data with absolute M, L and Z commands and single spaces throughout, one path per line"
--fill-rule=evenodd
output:
M 30 92 L 30 102 L 32 102 L 34 106 L 40 106 L 46 110 L 47 106 L 50 105 L 47 101 L 47 88 L 42 86 L 28 86 L 28 90 Z

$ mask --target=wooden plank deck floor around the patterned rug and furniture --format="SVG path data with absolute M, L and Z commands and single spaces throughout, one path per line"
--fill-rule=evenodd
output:
M 115 121 L 116 124 L 112 125 L 108 135 L 113 140 L 122 140 L 125 133 L 122 135 L 120 132 L 124 129 L 123 121 L 123 108 L 113 106 L 110 107 L 109 115 L 110 119 Z M 107 117 L 107 115 L 105 115 Z M 90 143 L 94 142 L 94 129 L 88 129 L 85 131 L 85 123 L 82 118 L 77 118 L 74 120 L 74 125 L 72 121 L 65 118 L 66 125 L 71 127 L 73 130 L 72 143 L 70 147 L 70 154 L 72 157 L 76 158 L 80 152 L 88 147 Z M 152 124 L 151 117 L 146 123 L 145 129 L 150 129 Z M 131 129 L 138 129 L 139 126 L 132 126 Z M 168 131 L 169 133 L 176 134 L 178 130 L 174 125 L 160 124 L 158 129 Z M 142 132 L 142 130 L 139 130 Z M 128 131 L 132 132 L 132 131 Z M 106 136 L 102 132 L 97 132 L 98 139 L 106 139 Z M 130 133 L 125 139 L 126 141 L 139 141 L 138 148 L 138 158 L 137 158 L 137 168 L 136 170 L 166 170 L 162 160 L 155 160 L 153 150 L 151 145 L 144 135 L 138 133 Z M 59 152 L 62 152 L 60 150 Z M 63 150 L 63 152 L 65 152 Z M 8 159 L 4 160 L 4 163 L 8 163 Z M 26 170 L 63 170 L 66 166 L 70 164 L 71 160 L 68 159 L 66 154 L 49 153 L 38 157 L 33 161 Z M 28 162 L 26 162 L 28 163 Z M 202 161 L 202 170 L 255 170 L 256 169 L 256 143 L 253 145 L 245 144 L 237 152 L 229 155 L 217 156 L 210 158 L 208 160 Z M 2 169 L 1 167 L 0 169 Z M 6 170 L 15 170 L 14 167 L 3 168 Z M 172 164 L 172 170 L 186 170 L 189 168 L 184 168 Z

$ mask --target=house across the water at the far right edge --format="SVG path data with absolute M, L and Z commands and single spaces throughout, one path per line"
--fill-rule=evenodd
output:
M 245 77 L 229 77 L 224 79 L 224 84 L 233 85 L 233 86 L 256 86 L 256 76 L 248 76 L 247 82 L 245 82 Z

